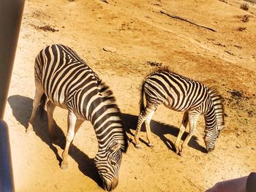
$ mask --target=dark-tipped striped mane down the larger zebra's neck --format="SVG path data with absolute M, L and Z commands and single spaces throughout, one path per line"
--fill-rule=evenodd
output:
M 110 90 L 109 86 L 105 84 L 105 82 L 102 82 L 102 80 L 98 81 L 98 87 L 99 87 L 99 93 L 101 94 L 102 101 L 105 103 L 108 109 L 113 109 L 115 112 L 118 113 L 120 117 L 121 126 L 123 127 L 123 133 L 124 133 L 124 143 L 122 150 L 124 153 L 127 152 L 128 147 L 128 139 L 127 139 L 127 133 L 124 130 L 124 125 L 121 120 L 121 111 L 119 110 L 117 104 L 116 104 L 116 98 L 113 96 L 113 91 Z

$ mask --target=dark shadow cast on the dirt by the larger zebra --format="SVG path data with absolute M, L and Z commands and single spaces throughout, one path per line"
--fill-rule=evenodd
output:
M 18 122 L 24 126 L 25 133 L 32 111 L 33 99 L 30 99 L 26 96 L 15 95 L 10 96 L 8 98 L 8 102 L 12 108 L 12 114 L 16 120 L 18 120 Z M 34 120 L 34 133 L 40 139 L 42 139 L 42 142 L 45 142 L 45 144 L 48 145 L 51 150 L 53 150 L 53 153 L 55 153 L 56 159 L 59 161 L 60 165 L 62 158 L 58 153 L 58 149 L 54 145 L 58 145 L 62 150 L 64 150 L 66 142 L 65 134 L 61 128 L 59 128 L 59 126 L 56 126 L 56 137 L 58 137 L 58 141 L 54 142 L 53 145 L 53 142 L 50 139 L 50 135 L 48 134 L 48 121 L 45 120 L 45 117 L 47 118 L 47 112 L 44 111 L 44 120 L 40 120 L 38 116 L 39 115 L 36 115 Z M 89 158 L 88 155 L 84 154 L 81 150 L 78 149 L 78 147 L 72 144 L 69 147 L 69 155 L 78 163 L 78 169 L 80 172 L 82 172 L 87 177 L 90 177 L 95 181 L 95 183 L 97 183 L 97 185 L 102 187 L 102 181 L 97 172 L 97 168 L 94 165 L 94 158 Z

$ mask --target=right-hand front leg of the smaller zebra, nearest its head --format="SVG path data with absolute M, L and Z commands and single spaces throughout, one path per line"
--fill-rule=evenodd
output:
M 200 114 L 198 112 L 189 112 L 189 134 L 187 135 L 186 139 L 181 145 L 180 155 L 181 155 L 181 151 L 184 151 L 184 148 L 187 147 L 189 140 L 195 134 L 195 128 L 197 126 L 197 119 L 199 115 Z

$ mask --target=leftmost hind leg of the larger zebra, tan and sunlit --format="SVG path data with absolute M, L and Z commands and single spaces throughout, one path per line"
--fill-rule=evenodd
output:
M 42 88 L 36 84 L 36 91 L 34 93 L 34 101 L 33 101 L 33 109 L 31 112 L 31 117 L 29 118 L 29 126 L 28 128 L 26 128 L 26 134 L 31 134 L 31 132 L 33 131 L 34 118 L 36 116 L 37 107 L 40 104 L 40 100 L 43 93 L 44 92 L 42 91 Z

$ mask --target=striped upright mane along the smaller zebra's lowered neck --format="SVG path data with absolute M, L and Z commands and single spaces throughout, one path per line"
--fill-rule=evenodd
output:
M 218 130 L 225 128 L 223 98 L 215 88 L 208 88 L 217 115 Z

